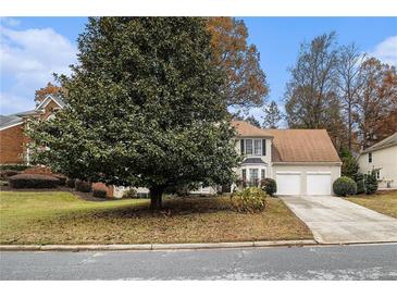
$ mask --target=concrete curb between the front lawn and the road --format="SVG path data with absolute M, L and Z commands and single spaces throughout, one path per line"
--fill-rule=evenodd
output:
M 247 248 L 274 246 L 310 246 L 315 240 L 244 241 L 209 244 L 144 244 L 144 245 L 0 245 L 0 251 L 80 251 L 80 250 L 184 250 Z

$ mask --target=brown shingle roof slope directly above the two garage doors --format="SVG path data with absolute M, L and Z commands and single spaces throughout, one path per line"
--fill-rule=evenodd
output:
M 263 129 L 274 137 L 273 162 L 340 162 L 325 129 Z

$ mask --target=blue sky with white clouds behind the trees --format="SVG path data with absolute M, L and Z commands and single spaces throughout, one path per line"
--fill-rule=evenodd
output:
M 338 44 L 356 42 L 363 51 L 397 65 L 396 17 L 244 17 L 249 42 L 261 54 L 271 88 L 270 100 L 281 105 L 299 45 L 335 30 Z M 69 74 L 76 62 L 76 38 L 86 17 L 1 18 L 1 114 L 34 108 L 35 90 L 52 80 L 51 73 Z M 252 110 L 260 119 L 261 111 Z

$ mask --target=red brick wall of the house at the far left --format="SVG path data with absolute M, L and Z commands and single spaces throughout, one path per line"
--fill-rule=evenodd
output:
M 0 131 L 0 164 L 13 164 L 24 162 L 24 145 L 26 137 L 20 124 Z

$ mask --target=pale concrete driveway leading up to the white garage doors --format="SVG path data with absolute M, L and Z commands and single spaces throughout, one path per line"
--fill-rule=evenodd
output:
M 331 196 L 285 196 L 320 244 L 397 241 L 397 220 Z

